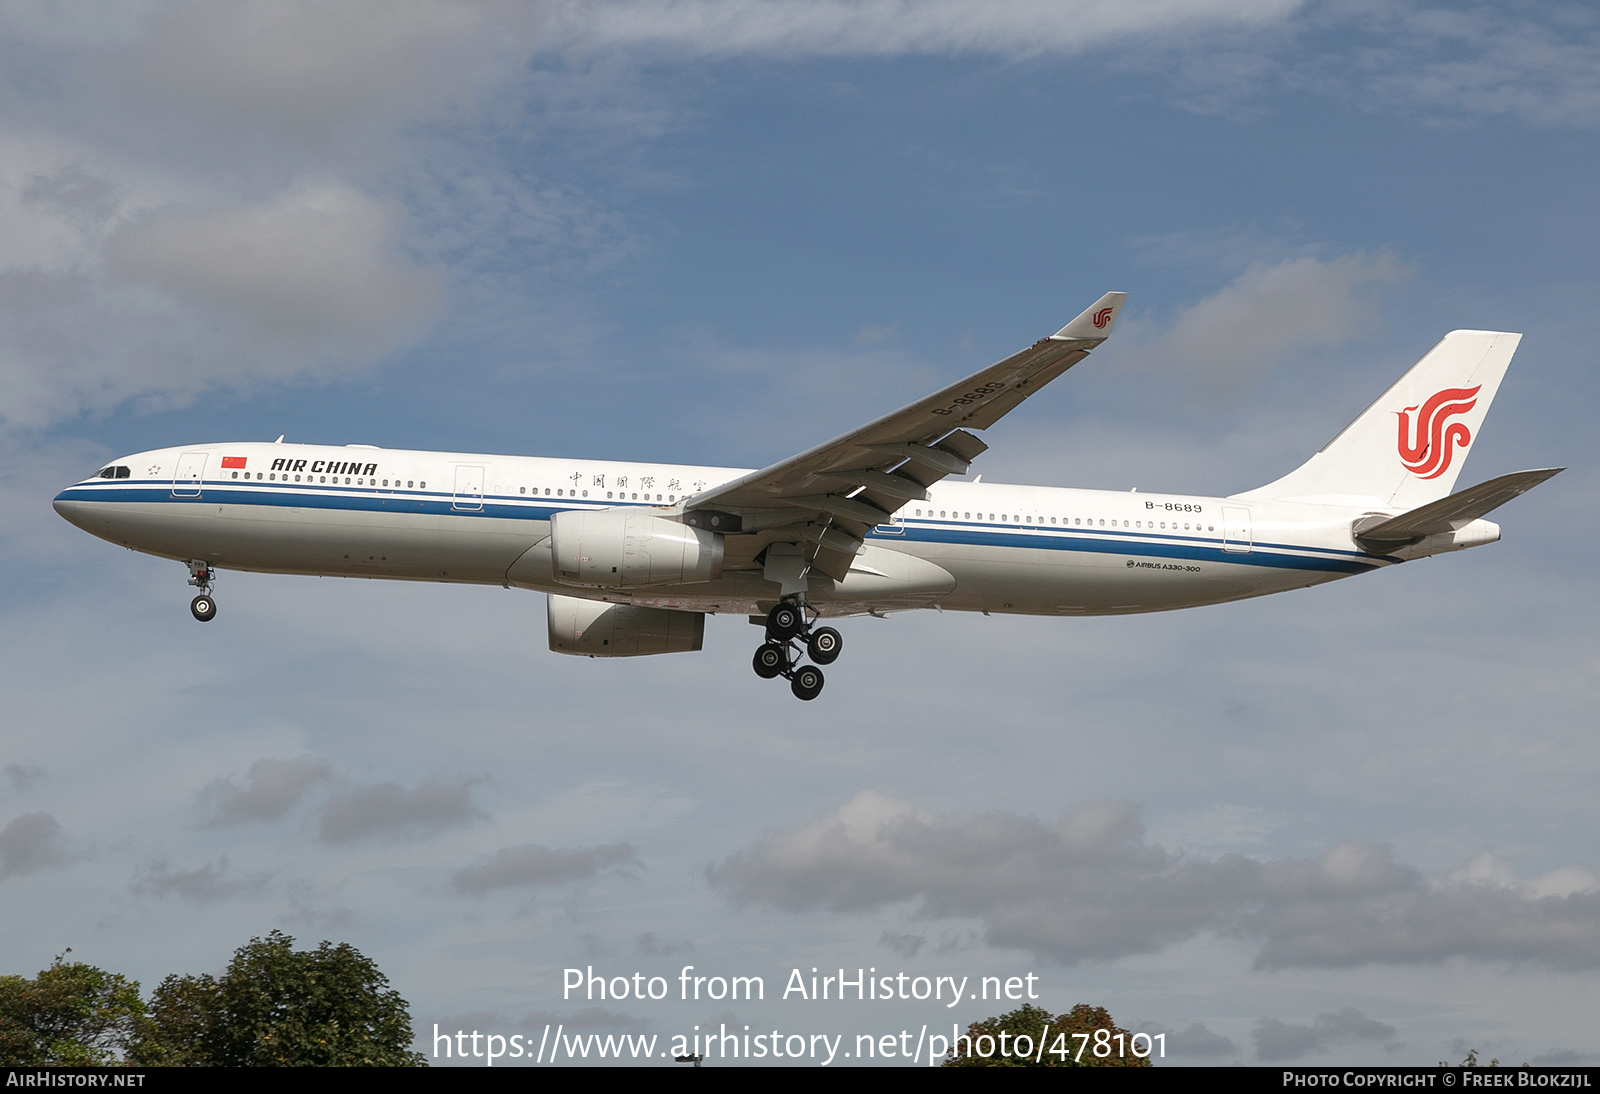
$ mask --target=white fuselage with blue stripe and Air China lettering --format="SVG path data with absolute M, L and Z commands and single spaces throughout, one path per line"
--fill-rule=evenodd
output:
M 226 465 L 224 465 L 226 464 Z M 118 461 L 54 501 L 102 539 L 213 568 L 515 585 L 570 597 L 754 614 L 776 601 L 755 557 L 715 581 L 574 587 L 552 566 L 550 517 L 682 512 L 730 467 L 421 453 L 368 446 L 195 445 Z M 954 611 L 1120 614 L 1256 597 L 1498 537 L 1378 555 L 1352 536 L 1371 507 L 941 481 L 867 537 L 843 582 L 808 595 L 824 616 Z M 1493 529 L 1493 534 L 1490 533 Z M 1469 529 L 1464 529 L 1467 533 Z M 1450 539 L 1450 537 L 1434 537 Z M 734 537 L 762 545 L 758 536 Z M 1470 541 L 1470 542 L 1469 542 Z

